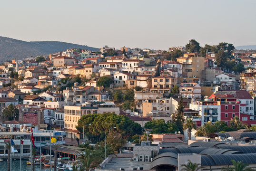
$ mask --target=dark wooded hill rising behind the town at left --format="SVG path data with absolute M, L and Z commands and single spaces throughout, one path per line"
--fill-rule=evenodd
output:
M 99 48 L 82 46 L 59 41 L 26 42 L 13 38 L 0 36 L 0 62 L 24 57 L 36 57 L 67 50 L 68 48 L 81 48 L 98 51 Z

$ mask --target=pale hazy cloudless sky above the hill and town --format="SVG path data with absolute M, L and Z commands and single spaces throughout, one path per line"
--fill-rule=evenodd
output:
M 167 50 L 256 45 L 256 0 L 1 0 L 0 36 Z

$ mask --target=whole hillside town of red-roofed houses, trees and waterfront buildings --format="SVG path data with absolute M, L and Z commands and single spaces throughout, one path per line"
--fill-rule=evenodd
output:
M 164 50 L 69 48 L 7 59 L 0 157 L 73 171 L 181 171 L 188 160 L 209 171 L 231 160 L 255 168 L 255 64 L 256 50 L 194 39 Z M 33 147 L 44 161 L 31 161 Z

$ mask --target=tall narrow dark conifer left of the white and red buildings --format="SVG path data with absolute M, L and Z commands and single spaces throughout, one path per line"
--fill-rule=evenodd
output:
M 173 120 L 173 123 L 177 125 L 178 130 L 181 133 L 183 133 L 183 123 L 185 120 L 183 117 L 184 106 L 183 106 L 182 96 L 180 97 L 180 101 L 176 109 L 177 109 L 177 113 L 173 114 L 172 120 Z

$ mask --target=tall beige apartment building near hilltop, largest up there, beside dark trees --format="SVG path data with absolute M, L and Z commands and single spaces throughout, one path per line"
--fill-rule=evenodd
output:
M 200 54 L 184 54 L 177 58 L 177 62 L 182 64 L 182 76 L 202 77 L 202 71 L 205 69 L 205 58 Z

